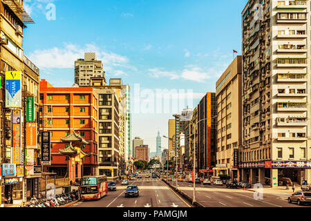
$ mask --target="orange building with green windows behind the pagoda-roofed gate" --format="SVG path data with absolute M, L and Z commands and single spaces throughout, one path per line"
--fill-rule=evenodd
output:
M 89 144 L 82 150 L 84 157 L 82 175 L 97 175 L 98 152 L 98 95 L 93 88 L 55 88 L 45 79 L 40 81 L 40 131 L 51 132 L 51 165 L 44 166 L 44 172 L 67 174 L 68 157 L 59 149 L 69 144 L 61 141 L 73 133 L 79 133 Z M 77 169 L 75 170 L 77 171 Z

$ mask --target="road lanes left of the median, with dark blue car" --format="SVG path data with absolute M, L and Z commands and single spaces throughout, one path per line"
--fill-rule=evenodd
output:
M 80 201 L 70 207 L 189 207 L 176 193 L 171 191 L 159 178 L 151 177 L 133 180 L 140 189 L 138 198 L 125 198 L 126 186 L 117 184 L 117 191 L 109 193 L 100 200 Z

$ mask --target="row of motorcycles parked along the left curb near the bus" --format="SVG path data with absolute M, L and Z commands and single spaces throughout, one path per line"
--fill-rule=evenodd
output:
M 47 200 L 45 198 L 37 199 L 32 197 L 30 202 L 23 207 L 59 207 L 69 202 L 79 199 L 79 191 L 73 190 L 71 193 L 55 195 L 55 198 Z

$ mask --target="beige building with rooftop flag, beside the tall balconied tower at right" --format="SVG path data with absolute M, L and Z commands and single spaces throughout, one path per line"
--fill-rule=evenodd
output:
M 214 175 L 238 177 L 238 146 L 242 144 L 242 57 L 237 56 L 216 82 L 217 154 Z

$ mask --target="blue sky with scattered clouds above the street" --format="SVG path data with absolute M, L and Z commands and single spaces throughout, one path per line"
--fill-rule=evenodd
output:
M 214 92 L 233 59 L 232 50 L 241 55 L 241 11 L 246 2 L 26 0 L 35 24 L 24 30 L 23 49 L 40 68 L 41 79 L 54 86 L 72 86 L 74 61 L 84 52 L 97 52 L 107 80 L 122 77 L 132 92 L 138 85 L 140 92 L 149 92 L 136 94 L 142 107 L 132 115 L 132 138 L 142 137 L 152 152 L 158 128 L 167 135 L 167 120 L 178 111 L 154 113 L 155 104 L 146 113 L 140 111 L 143 103 L 152 103 L 150 94 L 156 89 L 175 89 L 183 95 L 179 99 L 192 91 L 189 106 L 197 105 L 207 91 Z M 46 8 L 50 3 L 55 20 L 46 17 L 52 15 Z M 162 146 L 167 147 L 164 138 Z

